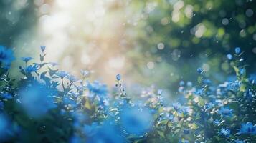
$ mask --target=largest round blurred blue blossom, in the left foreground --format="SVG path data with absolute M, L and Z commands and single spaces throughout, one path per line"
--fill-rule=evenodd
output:
M 55 94 L 57 93 L 53 89 L 42 84 L 32 84 L 19 91 L 19 99 L 27 114 L 32 117 L 41 117 L 49 109 L 56 107 L 52 99 Z

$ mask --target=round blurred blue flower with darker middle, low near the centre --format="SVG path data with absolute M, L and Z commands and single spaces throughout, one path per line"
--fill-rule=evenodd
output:
M 123 129 L 129 134 L 143 135 L 151 129 L 153 123 L 149 109 L 139 107 L 124 107 L 120 115 Z

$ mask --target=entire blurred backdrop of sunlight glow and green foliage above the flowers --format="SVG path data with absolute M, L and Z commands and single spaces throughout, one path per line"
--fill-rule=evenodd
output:
M 92 70 L 112 87 L 122 74 L 128 87 L 176 92 L 198 67 L 214 82 L 234 74 L 226 55 L 237 46 L 255 74 L 255 9 L 255 0 L 1 0 L 0 44 L 15 51 L 13 77 L 19 57 L 39 59 L 45 45 L 47 61 L 77 77 Z

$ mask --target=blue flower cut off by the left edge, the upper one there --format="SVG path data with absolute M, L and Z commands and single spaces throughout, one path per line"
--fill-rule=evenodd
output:
M 14 59 L 13 51 L 0 45 L 0 64 L 9 66 Z

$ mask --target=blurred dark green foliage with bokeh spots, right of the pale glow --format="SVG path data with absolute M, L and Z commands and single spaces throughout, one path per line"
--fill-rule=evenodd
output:
M 207 76 L 222 81 L 232 68 L 221 59 L 237 46 L 252 65 L 249 73 L 255 69 L 254 1 L 131 1 L 129 6 L 134 16 L 141 16 L 127 29 L 127 33 L 133 31 L 134 49 L 128 56 L 138 67 L 139 76 L 131 69 L 138 82 L 170 88 L 179 80 L 193 81 L 191 75 L 199 66 L 209 71 Z M 150 71 L 149 61 L 154 62 Z M 221 75 L 222 71 L 227 74 Z

